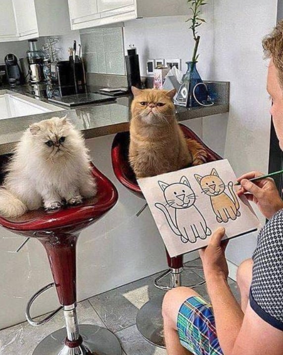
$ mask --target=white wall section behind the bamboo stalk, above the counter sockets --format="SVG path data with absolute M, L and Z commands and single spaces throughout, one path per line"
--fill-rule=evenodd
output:
M 189 7 L 188 7 L 189 14 Z M 199 27 L 201 36 L 197 68 L 203 79 L 210 79 L 210 61 L 213 48 L 212 5 L 203 7 L 205 24 Z M 140 56 L 141 75 L 146 76 L 147 59 L 167 58 L 182 60 L 182 71 L 187 70 L 186 61 L 192 57 L 194 41 L 186 23 L 188 16 L 155 17 L 125 22 L 125 53 L 135 44 Z

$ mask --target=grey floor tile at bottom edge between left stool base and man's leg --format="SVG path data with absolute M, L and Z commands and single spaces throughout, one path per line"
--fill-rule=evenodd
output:
M 127 355 L 166 355 L 166 350 L 157 348 L 144 340 L 136 325 L 115 333 Z

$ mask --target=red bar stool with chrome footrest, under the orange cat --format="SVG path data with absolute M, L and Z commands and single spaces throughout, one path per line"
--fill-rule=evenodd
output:
M 207 152 L 207 162 L 222 159 L 218 154 L 208 148 L 201 139 L 193 133 L 187 126 L 180 124 L 180 127 L 187 138 L 195 139 L 205 148 Z M 123 132 L 116 134 L 111 149 L 111 158 L 114 174 L 117 179 L 129 190 L 134 192 L 139 197 L 143 198 L 140 186 L 137 183 L 135 174 L 128 161 L 128 152 L 130 144 L 130 133 Z M 146 206 L 146 205 L 145 205 Z M 143 209 L 142 209 L 143 210 Z M 138 216 L 139 214 L 137 214 Z M 170 290 L 174 287 L 182 286 L 182 272 L 184 269 L 202 269 L 201 266 L 184 266 L 183 257 L 179 255 L 171 258 L 166 250 L 167 264 L 169 269 L 154 281 L 155 287 L 161 290 Z M 167 275 L 170 275 L 170 285 L 162 285 L 160 281 Z M 205 281 L 188 287 L 196 287 L 202 285 Z M 143 337 L 150 343 L 165 348 L 163 336 L 163 319 L 161 314 L 163 296 L 149 300 L 142 306 L 137 315 L 137 327 Z

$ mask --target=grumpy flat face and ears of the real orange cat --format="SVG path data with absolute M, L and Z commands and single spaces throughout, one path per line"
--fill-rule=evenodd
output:
M 132 116 L 146 124 L 166 124 L 174 119 L 175 106 L 172 99 L 176 90 L 140 90 L 132 87 L 134 100 L 132 102 Z

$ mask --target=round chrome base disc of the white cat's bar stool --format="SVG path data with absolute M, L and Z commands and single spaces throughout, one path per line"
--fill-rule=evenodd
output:
M 70 348 L 65 344 L 66 328 L 49 334 L 35 348 L 32 355 L 122 355 L 116 336 L 110 330 L 97 325 L 79 325 L 83 343 Z

